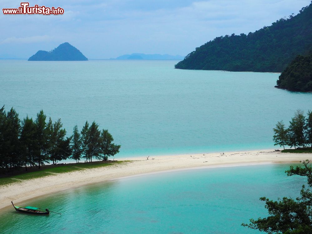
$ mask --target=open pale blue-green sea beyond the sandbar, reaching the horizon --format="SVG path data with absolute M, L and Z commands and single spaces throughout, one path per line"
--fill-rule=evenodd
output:
M 312 93 L 274 88 L 279 74 L 174 69 L 177 61 L 0 61 L 0 105 L 43 109 L 71 135 L 95 120 L 121 156 L 274 148 L 273 127 Z M 275 147 L 276 148 L 276 147 Z

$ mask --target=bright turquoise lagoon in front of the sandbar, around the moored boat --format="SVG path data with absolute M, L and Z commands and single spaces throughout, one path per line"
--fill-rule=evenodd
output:
M 208 168 L 144 175 L 22 202 L 61 212 L 36 216 L 8 207 L 0 233 L 260 233 L 242 222 L 267 217 L 259 197 L 299 196 L 304 178 L 289 165 Z

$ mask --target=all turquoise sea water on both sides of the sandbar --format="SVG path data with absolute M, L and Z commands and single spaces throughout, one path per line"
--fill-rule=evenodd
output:
M 279 74 L 173 69 L 177 61 L 0 61 L 0 104 L 35 118 L 61 118 L 71 134 L 95 120 L 123 156 L 272 149 L 272 129 L 312 93 L 274 88 Z M 303 158 L 305 159 L 305 158 Z M 259 233 L 259 197 L 299 196 L 289 165 L 183 170 L 123 178 L 16 205 L 50 208 L 38 217 L 0 212 L 0 233 Z

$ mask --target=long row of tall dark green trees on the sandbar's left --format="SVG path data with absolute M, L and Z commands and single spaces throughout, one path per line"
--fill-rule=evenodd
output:
M 82 130 L 77 125 L 73 134 L 66 137 L 61 119 L 54 123 L 51 117 L 47 121 L 43 110 L 33 120 L 28 116 L 19 119 L 18 113 L 11 108 L 0 109 L 0 168 L 9 171 L 12 168 L 27 166 L 40 168 L 44 163 L 53 164 L 68 158 L 79 162 L 92 159 L 107 160 L 119 153 L 120 145 L 113 143 L 114 138 L 107 129 L 99 129 L 94 121 L 85 122 Z

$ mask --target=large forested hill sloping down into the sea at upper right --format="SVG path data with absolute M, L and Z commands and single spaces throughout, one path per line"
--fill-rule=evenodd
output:
M 296 16 L 240 36 L 217 37 L 197 47 L 178 69 L 282 72 L 297 55 L 312 49 L 312 3 Z

